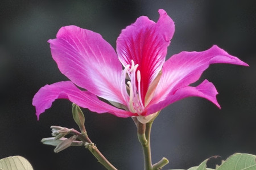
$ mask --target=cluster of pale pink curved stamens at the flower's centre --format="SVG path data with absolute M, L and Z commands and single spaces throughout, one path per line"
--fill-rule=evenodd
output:
M 144 110 L 144 105 L 141 100 L 141 72 L 137 70 L 138 66 L 138 64 L 134 65 L 134 61 L 131 60 L 131 66 L 127 65 L 123 70 L 121 79 L 123 86 L 121 87 L 121 92 L 129 111 L 141 114 Z M 130 79 L 127 83 L 126 75 Z M 138 86 L 136 86 L 137 82 Z M 127 91 L 129 93 L 129 97 L 126 95 Z

